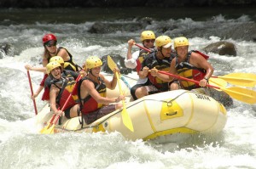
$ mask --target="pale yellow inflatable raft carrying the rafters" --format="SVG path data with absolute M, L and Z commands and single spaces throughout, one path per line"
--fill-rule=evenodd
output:
M 103 116 L 101 119 L 81 126 L 81 117 L 67 120 L 61 118 L 61 124 L 55 125 L 55 132 L 120 132 L 125 138 L 153 139 L 176 133 L 190 134 L 221 132 L 227 121 L 223 104 L 211 97 L 187 90 L 156 93 L 130 102 L 130 90 L 122 83 L 126 99 L 126 111 L 131 117 L 134 132 L 122 121 L 121 110 Z M 119 95 L 118 87 L 108 90 L 108 97 Z M 37 115 L 37 122 L 48 124 L 52 113 L 46 105 Z

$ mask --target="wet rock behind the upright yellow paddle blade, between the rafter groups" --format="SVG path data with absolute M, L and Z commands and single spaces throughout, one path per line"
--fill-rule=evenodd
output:
M 115 64 L 118 66 L 121 74 L 127 75 L 131 73 L 132 70 L 125 67 L 125 59 L 122 56 L 120 56 L 119 54 L 109 54 L 109 55 L 111 56 Z M 112 74 L 113 71 L 110 70 L 108 67 L 108 55 L 102 56 L 101 59 L 103 63 L 102 71 Z

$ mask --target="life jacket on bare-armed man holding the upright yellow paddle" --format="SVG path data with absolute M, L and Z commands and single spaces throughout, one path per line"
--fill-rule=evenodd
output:
M 103 104 L 98 104 L 96 102 L 96 99 L 93 99 L 90 95 L 88 95 L 87 97 L 85 97 L 84 99 L 81 98 L 81 91 L 80 91 L 80 87 L 81 84 L 84 80 L 89 80 L 90 82 L 93 82 L 88 76 L 85 76 L 84 78 L 82 78 L 79 81 L 79 100 L 80 100 L 80 111 L 83 114 L 88 114 L 92 111 L 98 110 L 100 108 L 102 108 Z M 106 84 L 105 82 L 102 81 L 102 78 L 98 77 L 98 80 L 100 81 L 100 84 L 97 82 L 93 82 L 93 84 L 95 85 L 96 91 L 102 96 L 102 97 L 106 97 L 107 96 L 107 88 L 106 88 Z M 82 103 L 83 101 L 83 103 Z

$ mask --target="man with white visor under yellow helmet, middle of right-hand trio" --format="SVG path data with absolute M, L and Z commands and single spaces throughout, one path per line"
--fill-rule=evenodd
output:
M 166 71 L 170 69 L 171 61 L 174 58 L 172 54 L 172 39 L 168 36 L 157 37 L 155 39 L 155 47 L 157 50 L 147 55 L 139 71 L 139 76 L 147 78 L 148 82 L 136 88 L 134 95 L 132 95 L 133 99 L 139 99 L 148 94 L 169 90 L 169 83 L 152 76 L 149 70 L 154 67 Z

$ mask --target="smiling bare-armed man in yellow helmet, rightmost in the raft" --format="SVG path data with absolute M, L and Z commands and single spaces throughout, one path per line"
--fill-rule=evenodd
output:
M 177 57 L 172 60 L 169 72 L 174 75 L 199 81 L 198 85 L 194 82 L 178 80 L 180 87 L 187 90 L 206 87 L 208 79 L 213 73 L 212 65 L 207 62 L 208 56 L 201 54 L 199 51 L 189 52 L 189 40 L 186 37 L 175 38 L 174 48 L 176 49 Z M 173 80 L 172 76 L 160 74 L 156 70 L 152 70 L 152 73 L 154 76 L 157 76 L 166 82 Z M 178 89 L 178 87 L 176 89 Z

